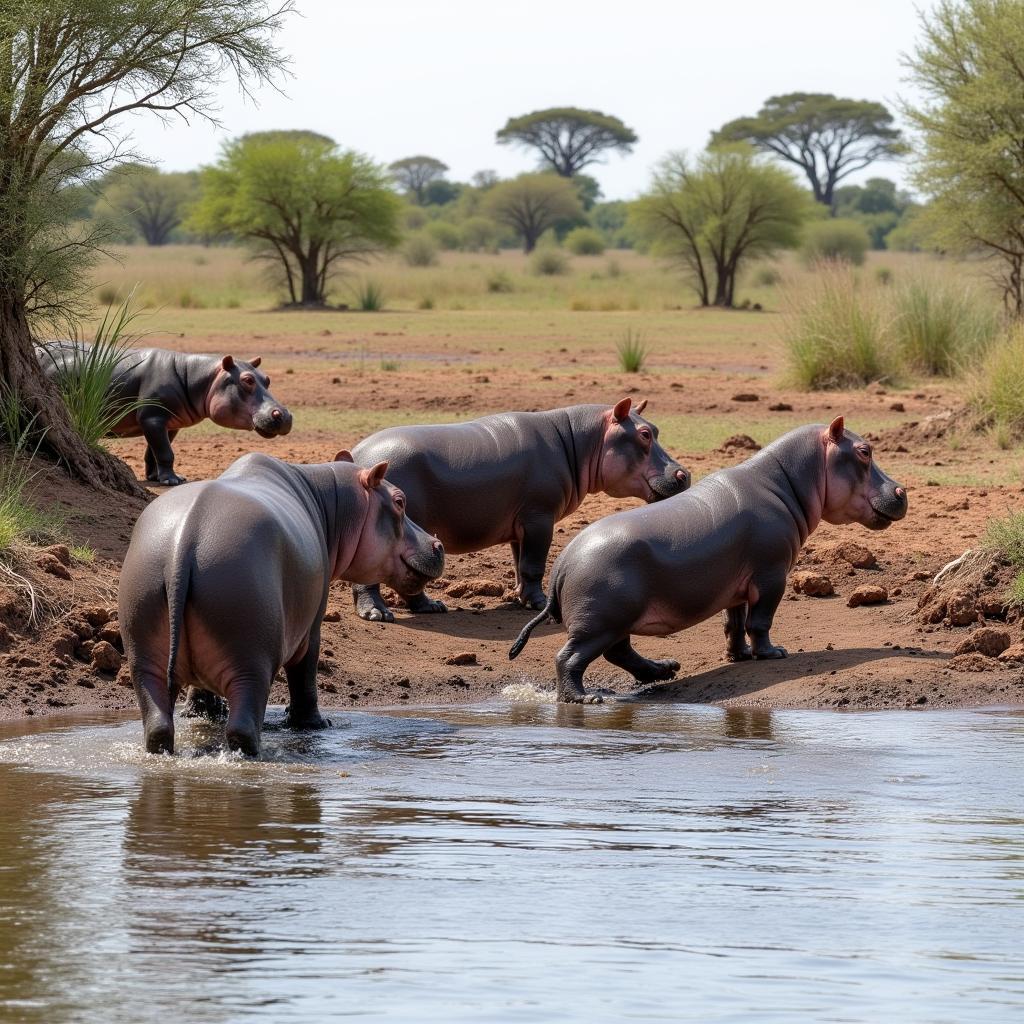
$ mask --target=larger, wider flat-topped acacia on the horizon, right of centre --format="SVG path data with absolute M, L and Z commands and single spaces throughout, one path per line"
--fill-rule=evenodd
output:
M 906 152 L 885 105 L 828 92 L 771 96 L 755 117 L 737 118 L 712 133 L 712 145 L 731 142 L 749 142 L 800 167 L 814 198 L 829 209 L 845 177 Z

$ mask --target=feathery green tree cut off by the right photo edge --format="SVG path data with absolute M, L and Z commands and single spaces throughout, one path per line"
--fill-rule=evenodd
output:
M 924 238 L 987 256 L 1024 315 L 1024 13 L 1018 0 L 940 0 L 907 58 L 925 99 L 904 115 L 921 139 L 914 183 L 931 203 Z

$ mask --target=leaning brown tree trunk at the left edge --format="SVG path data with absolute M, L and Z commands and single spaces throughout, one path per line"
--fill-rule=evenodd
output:
M 89 447 L 75 433 L 60 395 L 39 368 L 25 306 L 9 296 L 0 297 L 0 381 L 16 391 L 27 419 L 37 417 L 36 425 L 46 429 L 43 450 L 72 476 L 99 490 L 148 497 L 120 459 Z

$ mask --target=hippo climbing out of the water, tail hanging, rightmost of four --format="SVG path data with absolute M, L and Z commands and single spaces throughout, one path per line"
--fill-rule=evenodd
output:
M 602 654 L 639 683 L 672 679 L 679 663 L 643 657 L 631 636 L 666 637 L 719 611 L 730 660 L 785 657 L 769 631 L 786 575 L 818 523 L 887 529 L 906 509 L 904 488 L 842 416 L 827 427 L 798 427 L 684 495 L 582 530 L 556 559 L 548 602 L 509 657 L 545 620 L 563 622 L 568 637 L 555 670 L 566 703 L 600 702 L 583 677 Z

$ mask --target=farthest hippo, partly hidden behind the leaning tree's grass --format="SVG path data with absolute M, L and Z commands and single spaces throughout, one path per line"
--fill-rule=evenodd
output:
M 51 380 L 74 374 L 88 346 L 56 341 L 36 346 L 36 358 Z M 113 429 L 116 437 L 144 437 L 145 478 L 176 485 L 171 441 L 183 427 L 211 419 L 221 427 L 276 437 L 292 429 L 292 414 L 270 394 L 270 378 L 252 362 L 230 355 L 190 355 L 164 348 L 130 348 L 121 356 L 111 394 L 119 401 L 152 401 Z

